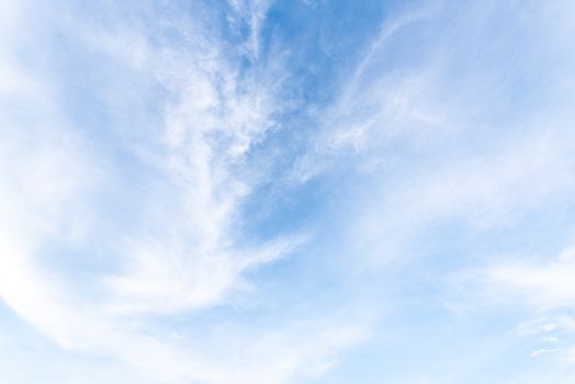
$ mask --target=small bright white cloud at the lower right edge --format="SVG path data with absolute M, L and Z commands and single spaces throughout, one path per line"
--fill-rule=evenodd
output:
M 557 257 L 499 257 L 487 267 L 458 273 L 454 291 L 475 309 L 503 306 L 518 310 L 523 319 L 517 320 L 521 323 L 511 335 L 532 343 L 531 357 L 549 354 L 572 363 L 574 255 L 568 247 Z

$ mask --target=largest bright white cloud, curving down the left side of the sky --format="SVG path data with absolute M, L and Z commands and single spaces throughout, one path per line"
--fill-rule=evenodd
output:
M 267 7 L 256 2 L 250 5 L 253 14 L 246 16 L 255 58 Z M 169 102 L 156 116 L 161 129 L 135 116 L 129 125 L 142 124 L 139 136 L 114 137 L 124 155 L 140 161 L 138 174 L 144 174 L 142 184 L 123 180 L 123 159 L 113 158 L 99 143 L 88 143 L 68 118 L 71 106 L 50 78 L 49 63 L 43 70 L 29 70 L 10 61 L 15 57 L 13 47 L 4 49 L 1 66 L 15 75 L 1 83 L 2 95 L 20 92 L 26 115 L 38 112 L 38 118 L 2 117 L 3 302 L 70 353 L 112 359 L 153 383 L 240 384 L 261 377 L 288 383 L 300 374 L 318 373 L 339 350 L 358 342 L 360 327 L 345 321 L 326 325 L 324 315 L 319 319 L 309 315 L 307 326 L 253 330 L 249 338 L 240 337 L 236 352 L 247 351 L 244 358 L 221 359 L 226 343 L 207 352 L 206 338 L 217 323 L 200 325 L 194 332 L 205 335 L 199 340 L 174 339 L 157 326 L 157 316 L 169 319 L 170 314 L 184 312 L 193 319 L 193 310 L 222 304 L 230 291 L 246 285 L 245 271 L 289 255 L 303 241 L 297 234 L 241 247 L 236 235 L 239 207 L 261 182 L 250 173 L 258 165 L 251 165 L 248 155 L 274 127 L 272 115 L 280 108 L 275 97 L 284 75 L 278 76 L 277 68 L 263 75 L 243 72 L 235 63 L 237 53 L 228 55 L 216 36 L 183 19 L 169 24 L 185 49 L 161 38 L 158 43 L 158 36 L 148 35 L 138 23 L 114 29 L 83 20 L 74 8 L 52 12 L 58 10 L 63 16 L 55 25 L 29 33 L 50 27 L 72 31 L 77 49 L 114 64 L 116 72 L 104 71 L 106 81 L 92 86 L 93 94 L 110 109 L 112 122 L 115 111 L 142 102 L 138 98 L 146 98 L 154 84 L 167 94 L 162 103 Z M 15 31 L 23 31 L 23 22 L 13 23 Z M 156 22 L 164 21 L 158 16 Z M 16 46 L 30 44 L 25 37 L 15 33 L 10 38 Z M 25 44 L 24 48 L 42 49 L 44 57 L 50 54 L 48 47 Z M 129 83 L 137 89 L 126 89 L 124 77 L 137 77 Z M 90 91 L 90 76 L 87 79 Z M 122 122 L 116 123 L 122 129 Z M 142 143 L 128 143 L 134 137 Z M 139 151 L 148 145 L 157 153 Z M 129 207 L 122 205 L 126 200 Z M 113 210 L 110 202 L 116 202 Z M 133 227 L 114 223 L 136 215 L 134 211 L 136 224 L 126 219 Z M 75 259 L 66 269 L 58 259 L 68 252 Z

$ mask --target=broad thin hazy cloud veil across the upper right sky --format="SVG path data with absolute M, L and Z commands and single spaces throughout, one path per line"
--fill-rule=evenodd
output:
M 571 70 L 561 67 L 549 82 L 531 83 L 526 64 L 505 54 L 515 47 L 539 72 L 552 70 L 551 57 L 575 63 L 568 50 L 545 46 L 537 56 L 539 47 L 509 37 L 525 30 L 533 41 L 554 45 L 571 26 L 544 31 L 546 11 L 526 25 L 495 2 L 438 7 L 441 12 L 421 7 L 385 21 L 340 97 L 320 114 L 318 134 L 293 169 L 293 180 L 302 183 L 338 168 L 363 176 L 354 179 L 356 204 L 349 203 L 359 211 L 354 225 L 346 227 L 352 227 L 350 241 L 363 245 L 358 252 L 383 260 L 402 255 L 401 247 L 422 229 L 453 222 L 472 230 L 514 226 L 529 213 L 568 204 L 575 189 L 573 105 L 571 97 L 556 99 L 564 94 L 559 74 L 568 78 Z M 444 18 L 453 23 L 449 33 L 436 30 Z M 481 48 L 491 39 L 480 31 L 499 18 L 508 22 L 497 24 L 498 49 Z M 403 29 L 426 35 L 426 46 L 437 49 L 406 64 Z M 472 53 L 473 63 L 462 59 Z M 482 60 L 506 67 L 482 67 Z M 522 105 L 514 87 L 521 81 L 546 99 Z

